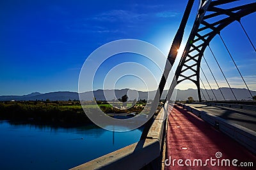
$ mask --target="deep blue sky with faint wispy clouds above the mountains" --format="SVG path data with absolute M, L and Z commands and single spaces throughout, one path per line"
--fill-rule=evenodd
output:
M 167 55 L 187 2 L 1 1 L 0 95 L 77 92 L 84 60 L 99 46 L 117 39 L 141 39 Z M 195 1 L 183 45 L 193 25 L 197 7 L 198 1 Z M 242 20 L 254 44 L 255 17 L 252 14 Z M 241 27 L 235 23 L 223 36 L 227 44 L 233 46 L 230 50 L 236 53 L 234 58 L 245 80 L 252 90 L 256 90 L 255 52 L 243 34 Z M 244 88 L 237 80 L 239 74 L 220 45 L 220 39 L 214 41 L 212 48 L 219 57 L 221 55 L 221 64 L 225 66 L 233 87 Z M 223 57 L 224 53 L 227 56 Z M 214 64 L 211 57 L 209 62 Z M 202 67 L 205 67 L 204 63 Z M 205 69 L 205 73 L 209 74 L 209 71 Z M 217 78 L 223 87 L 227 87 L 221 74 Z M 211 78 L 209 80 L 214 82 Z M 179 87 L 195 89 L 189 82 Z

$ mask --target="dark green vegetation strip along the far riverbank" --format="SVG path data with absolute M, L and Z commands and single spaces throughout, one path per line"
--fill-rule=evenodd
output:
M 0 103 L 0 120 L 79 125 L 92 123 L 84 111 L 95 113 L 100 108 L 104 113 L 140 113 L 144 108 L 143 104 L 132 106 L 132 103 L 127 103 L 127 108 L 132 107 L 128 110 L 119 110 L 104 101 L 99 103 L 101 104 L 86 101 L 82 103 L 82 108 L 79 101 L 4 101 Z

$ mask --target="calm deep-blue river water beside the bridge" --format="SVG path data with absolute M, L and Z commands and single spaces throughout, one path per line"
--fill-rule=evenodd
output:
M 68 169 L 140 139 L 141 131 L 113 132 L 95 125 L 54 128 L 0 121 L 0 169 Z

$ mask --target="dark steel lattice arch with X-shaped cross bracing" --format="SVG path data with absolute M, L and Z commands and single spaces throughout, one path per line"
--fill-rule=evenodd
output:
M 195 23 L 184 48 L 182 59 L 177 67 L 175 78 L 177 84 L 190 80 L 198 89 L 199 101 L 202 101 L 200 93 L 200 64 L 205 48 L 210 41 L 220 34 L 220 31 L 232 22 L 240 22 L 241 18 L 256 11 L 256 3 L 232 6 L 237 0 L 202 0 Z M 225 6 L 232 6 L 225 8 Z

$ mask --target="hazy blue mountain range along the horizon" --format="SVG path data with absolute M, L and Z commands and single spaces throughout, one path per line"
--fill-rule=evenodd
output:
M 204 90 L 201 89 L 202 93 L 202 99 L 204 99 L 204 96 L 207 100 L 209 100 L 209 97 L 212 99 L 215 99 L 213 93 L 211 90 Z M 245 99 L 248 100 L 250 97 L 250 94 L 247 89 L 235 89 L 232 88 L 234 94 L 236 95 L 237 99 Z M 207 91 L 207 92 L 206 92 Z M 223 99 L 221 96 L 219 89 L 213 89 L 215 96 L 217 99 Z M 234 96 L 229 88 L 221 88 L 221 92 L 225 96 L 225 99 L 234 99 Z M 255 91 L 251 91 L 253 96 L 256 96 Z M 208 94 L 209 96 L 208 96 Z M 154 96 L 156 94 L 156 91 L 150 91 L 150 92 L 141 92 L 136 90 L 129 90 L 129 89 L 121 89 L 121 90 L 95 90 L 91 92 L 83 92 L 81 93 L 81 97 L 83 97 L 84 100 L 92 101 L 93 100 L 93 94 L 94 97 L 97 100 L 106 100 L 104 96 L 108 96 L 108 101 L 111 101 L 112 99 L 118 99 L 124 96 L 124 94 L 127 94 L 129 96 L 129 99 L 135 99 L 138 97 L 138 99 L 154 99 Z M 162 98 L 167 94 L 167 90 L 164 90 Z M 188 89 L 188 90 L 177 90 L 177 100 L 186 100 L 189 96 L 192 96 L 195 100 L 198 100 L 197 96 L 197 90 L 196 89 Z M 70 100 L 79 100 L 79 95 L 77 92 L 49 92 L 45 94 L 41 94 L 39 92 L 33 92 L 31 94 L 23 95 L 23 96 L 0 96 L 0 101 L 29 101 L 29 100 L 46 100 L 49 99 L 51 101 L 68 101 Z

